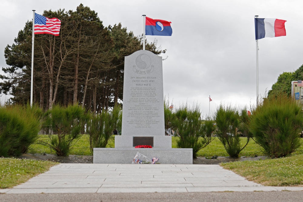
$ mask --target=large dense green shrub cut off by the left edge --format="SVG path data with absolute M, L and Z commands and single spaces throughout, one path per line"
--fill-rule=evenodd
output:
M 0 156 L 19 156 L 28 150 L 38 137 L 41 114 L 36 106 L 0 107 Z

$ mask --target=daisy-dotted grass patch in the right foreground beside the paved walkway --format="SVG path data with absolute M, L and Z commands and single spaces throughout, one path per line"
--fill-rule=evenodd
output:
M 237 161 L 221 166 L 265 186 L 303 186 L 303 154 L 260 161 Z

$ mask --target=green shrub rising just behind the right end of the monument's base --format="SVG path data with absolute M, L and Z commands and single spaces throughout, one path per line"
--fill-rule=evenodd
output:
M 197 152 L 206 147 L 213 138 L 205 135 L 205 127 L 201 122 L 201 112 L 198 105 L 190 108 L 187 104 L 176 109 L 171 120 L 173 129 L 177 132 L 177 147 L 192 148 L 193 158 Z M 200 138 L 199 138 L 200 137 Z

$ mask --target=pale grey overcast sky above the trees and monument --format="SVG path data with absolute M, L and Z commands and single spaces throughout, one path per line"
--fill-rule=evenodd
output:
M 172 36 L 146 36 L 167 49 L 160 55 L 168 57 L 163 61 L 164 96 L 175 107 L 186 101 L 198 103 L 204 115 L 209 104 L 210 113 L 221 102 L 239 107 L 255 104 L 255 15 L 287 21 L 286 36 L 258 40 L 259 94 L 270 90 L 280 74 L 303 64 L 302 1 L 1 0 L 0 67 L 7 67 L 4 48 L 32 20 L 32 10 L 75 11 L 80 3 L 97 12 L 104 26 L 121 22 L 135 35 L 143 32 L 142 15 L 171 21 Z

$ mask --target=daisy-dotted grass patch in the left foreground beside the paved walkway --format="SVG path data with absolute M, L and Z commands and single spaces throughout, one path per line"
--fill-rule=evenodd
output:
M 51 161 L 0 158 L 0 189 L 24 183 L 56 164 Z

